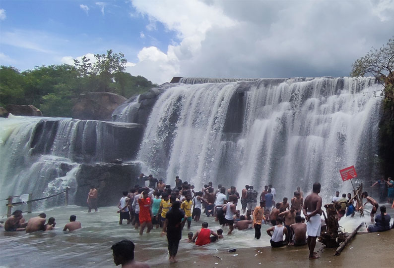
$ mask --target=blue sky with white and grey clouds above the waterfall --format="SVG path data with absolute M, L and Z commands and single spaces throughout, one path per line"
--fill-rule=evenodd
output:
M 394 0 L 1 0 L 0 64 L 24 71 L 112 49 L 156 84 L 348 76 L 394 36 L 393 14 Z

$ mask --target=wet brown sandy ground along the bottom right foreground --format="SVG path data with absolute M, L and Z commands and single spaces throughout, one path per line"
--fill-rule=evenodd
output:
M 319 242 L 316 250 L 321 256 L 318 260 L 308 259 L 307 245 L 239 249 L 234 253 L 209 251 L 204 256 L 192 257 L 177 264 L 163 262 L 160 268 L 259 268 L 267 265 L 275 268 L 393 268 L 394 230 L 357 234 L 340 256 L 334 256 L 335 249 L 326 249 Z M 184 255 L 187 254 L 178 253 L 182 259 L 185 259 Z

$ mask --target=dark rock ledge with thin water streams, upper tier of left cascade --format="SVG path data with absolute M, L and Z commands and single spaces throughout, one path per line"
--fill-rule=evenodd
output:
M 135 159 L 143 126 L 77 119 L 41 120 L 30 142 L 31 153 L 67 155 L 77 163 Z M 78 138 L 76 138 L 78 137 Z M 64 146 L 59 146 L 59 140 Z M 55 140 L 58 145 L 55 146 Z

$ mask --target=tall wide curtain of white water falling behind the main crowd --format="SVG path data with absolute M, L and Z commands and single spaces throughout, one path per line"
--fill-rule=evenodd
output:
M 381 98 L 370 92 L 382 87 L 373 78 L 207 81 L 166 85 L 149 117 L 138 159 L 167 183 L 269 183 L 292 196 L 320 181 L 331 195 L 350 188 L 339 169 L 377 176 Z

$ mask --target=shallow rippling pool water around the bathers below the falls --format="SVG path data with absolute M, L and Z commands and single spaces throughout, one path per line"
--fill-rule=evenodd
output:
M 49 217 L 56 218 L 56 229 L 49 232 L 0 231 L 0 267 L 115 267 L 112 260 L 111 245 L 122 240 L 131 239 L 135 243 L 135 259 L 146 262 L 152 267 L 168 263 L 167 239 L 161 237 L 161 229 L 153 229 L 151 233 L 139 236 L 131 225 L 119 225 L 119 214 L 116 207 L 99 208 L 97 213 L 87 213 L 86 208 L 77 206 L 57 207 L 44 211 Z M 41 212 L 24 214 L 26 220 Z M 74 232 L 64 232 L 63 227 L 70 215 L 76 215 L 82 223 L 82 229 Z M 227 236 L 228 227 L 224 227 L 224 239 L 208 246 L 197 247 L 187 243 L 187 233 L 195 233 L 202 221 L 207 221 L 213 230 L 220 228 L 213 218 L 201 216 L 199 223 L 192 223 L 191 230 L 185 228 L 182 232 L 178 259 L 188 260 L 198 255 L 232 248 L 250 248 L 269 245 L 269 236 L 265 233 L 268 225 L 262 228 L 262 238 L 254 239 L 254 230 L 235 230 Z M 347 232 L 361 222 L 368 222 L 369 217 L 353 219 L 345 218 L 340 221 Z M 126 223 L 126 221 L 124 221 Z M 363 230 L 361 230 L 363 231 Z M 365 229 L 364 229 L 365 231 Z

